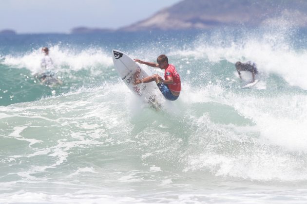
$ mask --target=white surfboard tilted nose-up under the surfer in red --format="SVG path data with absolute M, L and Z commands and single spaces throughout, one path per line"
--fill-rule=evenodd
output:
M 158 89 L 155 82 L 133 84 L 134 73 L 138 68 L 141 70 L 139 78 L 150 76 L 152 72 L 148 68 L 140 68 L 129 55 L 122 51 L 113 50 L 112 59 L 115 69 L 125 85 L 144 102 L 152 104 L 155 109 L 160 108 L 161 104 L 157 101 L 156 95 L 154 95 L 155 89 Z

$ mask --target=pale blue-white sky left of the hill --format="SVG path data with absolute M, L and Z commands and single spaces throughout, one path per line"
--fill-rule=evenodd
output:
M 120 28 L 181 0 L 0 0 L 0 30 L 69 33 L 72 28 Z

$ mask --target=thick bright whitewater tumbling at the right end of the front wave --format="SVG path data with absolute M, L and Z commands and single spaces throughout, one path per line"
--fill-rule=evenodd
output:
M 233 99 L 234 100 L 234 99 Z M 271 144 L 290 151 L 306 151 L 307 97 L 304 95 L 275 98 L 240 97 L 236 109 L 247 118 L 253 119 L 261 136 Z

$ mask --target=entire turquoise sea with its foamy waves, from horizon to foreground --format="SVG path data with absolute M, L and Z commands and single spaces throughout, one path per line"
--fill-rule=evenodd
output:
M 306 203 L 306 39 L 285 26 L 0 35 L 0 203 Z M 42 46 L 63 85 L 33 77 Z M 140 102 L 113 49 L 166 54 L 179 99 Z M 257 64 L 257 85 L 240 88 L 238 60 Z

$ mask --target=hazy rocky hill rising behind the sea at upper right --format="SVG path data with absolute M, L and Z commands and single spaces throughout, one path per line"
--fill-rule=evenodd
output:
M 120 31 L 258 26 L 283 18 L 307 27 L 307 0 L 183 0 Z

